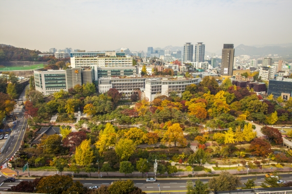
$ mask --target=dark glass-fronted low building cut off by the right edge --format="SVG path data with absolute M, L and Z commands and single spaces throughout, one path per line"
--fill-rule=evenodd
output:
M 274 98 L 282 96 L 283 100 L 288 100 L 292 95 L 292 79 L 278 76 L 269 80 L 268 95 L 273 94 Z

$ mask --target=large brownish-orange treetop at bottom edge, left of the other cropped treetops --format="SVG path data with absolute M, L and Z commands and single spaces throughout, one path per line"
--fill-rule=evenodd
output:
M 84 194 L 87 188 L 79 181 L 73 182 L 72 176 L 46 176 L 37 184 L 37 192 L 42 194 Z

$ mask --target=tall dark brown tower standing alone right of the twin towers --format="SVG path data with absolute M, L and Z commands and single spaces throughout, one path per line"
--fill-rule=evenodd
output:
M 222 49 L 221 72 L 222 76 L 232 76 L 234 61 L 234 45 L 224 44 Z

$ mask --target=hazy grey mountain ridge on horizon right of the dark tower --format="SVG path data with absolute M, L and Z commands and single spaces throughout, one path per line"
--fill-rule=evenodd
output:
M 265 46 L 265 47 L 253 47 L 245 46 L 243 44 L 238 45 L 235 48 L 235 55 L 258 55 L 258 56 L 267 56 L 269 54 L 278 54 L 278 56 L 287 56 L 292 55 L 292 46 Z

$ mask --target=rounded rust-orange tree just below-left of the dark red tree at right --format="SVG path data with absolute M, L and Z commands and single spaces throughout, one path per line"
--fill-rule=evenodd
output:
M 259 138 L 256 138 L 251 142 L 249 149 L 250 151 L 252 151 L 252 154 L 261 157 L 267 156 L 269 153 L 272 152 L 271 144 L 268 141 Z

